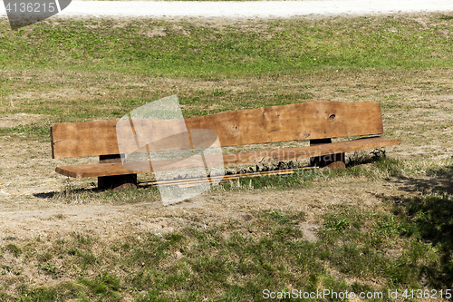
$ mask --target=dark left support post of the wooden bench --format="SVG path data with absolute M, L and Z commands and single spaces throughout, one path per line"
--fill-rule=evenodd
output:
M 120 154 L 100 155 L 100 163 L 121 162 Z M 137 189 L 137 174 L 98 177 L 98 189 L 124 190 Z

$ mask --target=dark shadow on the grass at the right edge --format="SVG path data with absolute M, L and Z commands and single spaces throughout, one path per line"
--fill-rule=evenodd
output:
M 410 228 L 406 236 L 438 248 L 439 265 L 423 268 L 431 287 L 453 286 L 453 165 L 429 170 L 424 178 L 396 176 L 400 190 L 417 193 L 415 197 L 379 196 L 390 202 L 396 215 L 405 215 Z M 402 214 L 404 213 L 404 214 Z

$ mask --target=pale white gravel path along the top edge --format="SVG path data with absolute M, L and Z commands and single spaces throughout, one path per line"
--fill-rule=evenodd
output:
M 66 17 L 292 17 L 299 15 L 372 15 L 453 12 L 453 0 L 321 0 L 321 1 L 72 1 Z M 0 15 L 6 15 L 0 5 Z

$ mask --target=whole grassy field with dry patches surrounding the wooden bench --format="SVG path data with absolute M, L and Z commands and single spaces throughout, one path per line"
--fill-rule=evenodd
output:
M 0 301 L 265 301 L 265 289 L 450 300 L 452 37 L 443 14 L 57 19 L 16 32 L 3 19 Z M 346 171 L 242 179 L 170 207 L 155 188 L 55 175 L 96 159 L 51 160 L 53 122 L 114 120 L 171 94 L 186 117 L 377 101 L 401 144 L 348 154 Z

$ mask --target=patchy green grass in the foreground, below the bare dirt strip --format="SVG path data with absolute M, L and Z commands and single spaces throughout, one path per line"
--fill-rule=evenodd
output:
M 55 279 L 72 271 L 80 278 L 55 287 L 24 287 L 21 294 L 5 297 L 13 301 L 25 297 L 30 301 L 120 301 L 128 294 L 136 301 L 198 301 L 204 297 L 264 301 L 265 289 L 400 290 L 401 295 L 406 288 L 448 287 L 451 278 L 445 281 L 441 276 L 451 276 L 452 242 L 450 236 L 437 237 L 431 232 L 447 218 L 442 210 L 432 208 L 433 201 L 441 202 L 441 207 L 451 203 L 451 199 L 426 197 L 397 206 L 388 202 L 385 209 L 332 206 L 324 215 L 317 242 L 303 239 L 304 212 L 276 210 L 257 211 L 255 219 L 247 223 L 230 220 L 208 229 L 140 233 L 140 240 L 117 241 L 101 251 L 98 247 L 96 255 L 92 248 L 97 240 L 74 234 L 72 240 L 54 243 L 52 248 L 55 258 L 63 259 L 66 271 L 59 272 L 53 258 L 41 269 Z M 418 210 L 432 215 L 414 219 Z M 81 238 L 85 238 L 82 245 Z M 87 261 L 84 255 L 95 260 Z M 86 275 L 88 268 L 97 273 Z M 333 278 L 333 270 L 356 281 Z M 381 286 L 363 283 L 370 278 L 380 279 Z M 384 300 L 390 301 L 385 296 Z

